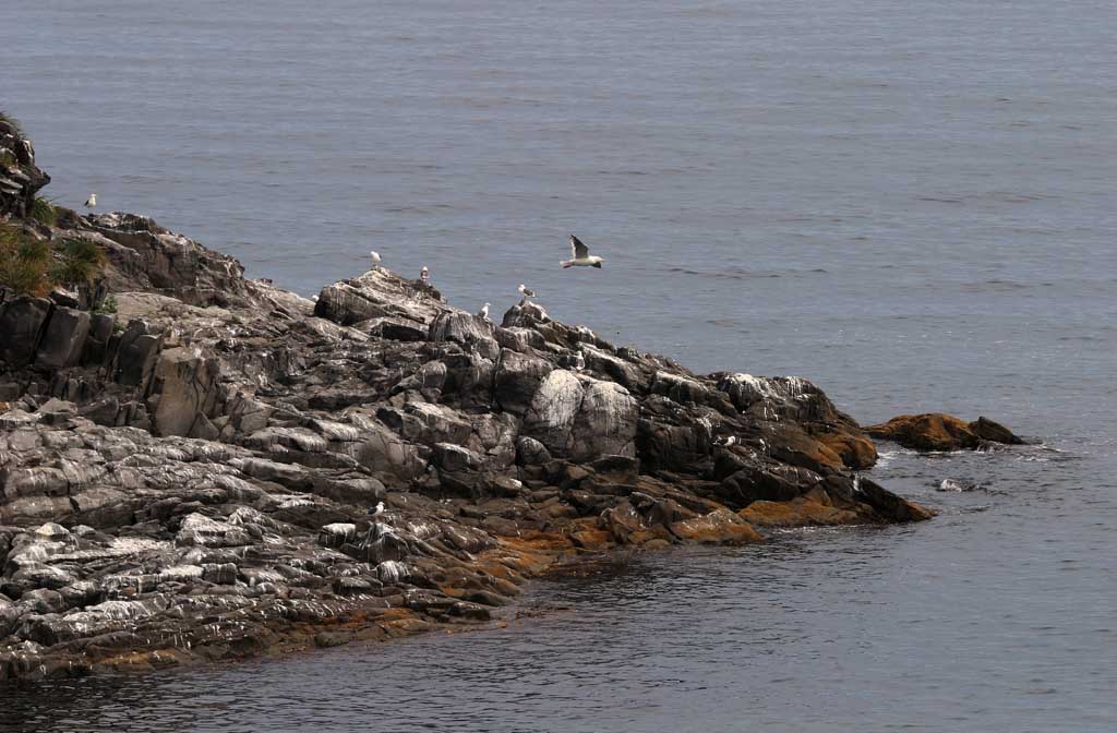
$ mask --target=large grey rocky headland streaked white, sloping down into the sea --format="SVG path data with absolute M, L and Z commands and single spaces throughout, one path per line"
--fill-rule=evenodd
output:
M 0 133 L 0 223 L 96 242 L 115 302 L 0 294 L 0 679 L 467 627 L 564 560 L 930 516 L 809 381 L 380 267 L 312 302 L 144 217 L 37 222 L 49 178 Z

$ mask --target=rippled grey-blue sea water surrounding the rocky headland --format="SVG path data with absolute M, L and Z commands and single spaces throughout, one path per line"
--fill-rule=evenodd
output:
M 493 631 L 9 688 L 3 730 L 1117 730 L 1113 3 L 12 0 L 3 27 L 0 108 L 59 203 L 306 295 L 370 249 L 467 308 L 524 282 L 861 422 L 1040 444 L 882 446 L 930 523 L 631 558 Z M 557 266 L 570 232 L 604 268 Z

